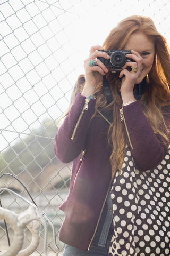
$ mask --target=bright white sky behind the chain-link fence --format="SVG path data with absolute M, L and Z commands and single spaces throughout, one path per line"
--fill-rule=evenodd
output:
M 120 20 L 149 16 L 169 42 L 169 12 L 167 0 L 0 0 L 0 151 L 62 115 L 90 47 Z

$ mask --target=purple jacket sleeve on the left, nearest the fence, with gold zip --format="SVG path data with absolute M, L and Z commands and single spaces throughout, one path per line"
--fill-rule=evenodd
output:
M 96 99 L 85 109 L 86 97 L 78 93 L 55 138 L 55 155 L 63 163 L 73 161 L 83 150 L 90 118 L 95 113 Z

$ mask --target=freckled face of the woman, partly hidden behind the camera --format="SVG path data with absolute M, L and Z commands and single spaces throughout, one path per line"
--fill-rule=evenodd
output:
M 134 50 L 143 58 L 140 69 L 141 71 L 136 81 L 136 84 L 139 84 L 152 68 L 155 55 L 155 45 L 145 34 L 143 34 L 141 31 L 137 31 L 130 35 L 128 42 L 124 46 L 124 50 Z

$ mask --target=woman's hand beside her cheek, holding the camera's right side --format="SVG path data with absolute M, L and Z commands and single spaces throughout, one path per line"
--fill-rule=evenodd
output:
M 141 57 L 141 55 L 133 50 L 131 51 L 131 54 L 126 54 L 126 57 L 133 59 L 134 62 L 126 62 L 125 65 L 122 67 L 123 70 L 120 72 L 119 75 L 120 78 L 125 75 L 125 77 L 122 78 L 121 85 L 121 96 L 123 103 L 134 100 L 133 88 L 141 73 L 143 62 L 143 58 Z M 138 71 L 128 71 L 126 69 L 127 67 L 138 68 Z

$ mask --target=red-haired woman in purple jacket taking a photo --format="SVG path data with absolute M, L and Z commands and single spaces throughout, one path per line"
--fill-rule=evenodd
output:
M 103 50 L 115 49 L 130 51 L 130 61 L 112 73 L 100 57 L 110 60 Z M 56 156 L 64 163 L 73 161 L 69 196 L 60 207 L 65 213 L 60 239 L 67 244 L 63 255 L 167 255 L 168 228 L 163 231 L 159 225 L 157 232 L 164 232 L 160 240 L 154 230 L 149 235 L 160 212 L 149 223 L 145 213 L 159 207 L 159 188 L 152 189 L 149 181 L 156 179 L 154 169 L 169 145 L 170 58 L 165 38 L 150 18 L 126 18 L 103 47 L 91 47 L 84 70 L 55 141 Z M 111 103 L 103 76 L 111 87 Z M 167 203 L 165 212 L 169 207 Z M 157 242 L 162 243 L 160 250 L 154 247 Z

